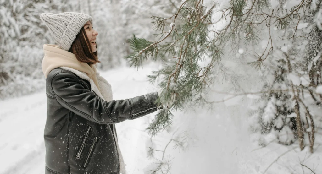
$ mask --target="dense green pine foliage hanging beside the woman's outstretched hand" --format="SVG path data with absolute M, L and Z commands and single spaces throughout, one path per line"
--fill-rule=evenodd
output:
M 204 102 L 201 95 L 211 83 L 210 69 L 221 59 L 222 50 L 207 38 L 208 23 L 215 4 L 205 11 L 201 1 L 184 1 L 176 14 L 169 18 L 152 16 L 152 25 L 161 36 L 158 41 L 147 41 L 133 36 L 129 44 L 134 53 L 124 58 L 130 66 L 142 67 L 142 62 L 155 58 L 166 60 L 163 69 L 148 76 L 151 83 L 159 82 L 160 100 L 166 106 L 147 128 L 156 135 L 171 125 L 173 110 L 182 110 L 189 102 Z M 165 31 L 170 23 L 170 30 Z M 179 23 L 179 24 L 177 24 Z M 200 61 L 211 57 L 211 62 L 200 66 Z

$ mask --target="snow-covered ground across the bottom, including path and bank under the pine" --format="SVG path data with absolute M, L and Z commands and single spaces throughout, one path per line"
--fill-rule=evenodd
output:
M 146 75 L 156 69 L 157 66 L 154 65 L 138 71 L 133 68 L 118 68 L 101 72 L 101 76 L 112 85 L 113 99 L 125 99 L 153 92 L 155 87 L 147 82 Z M 128 173 L 149 173 L 147 170 L 153 169 L 154 162 L 158 161 L 148 156 L 149 147 L 163 151 L 171 139 L 179 140 L 178 136 L 181 135 L 185 137 L 180 132 L 182 130 L 189 135 L 185 141 L 188 148 L 185 151 L 174 149 L 176 143 L 171 141 L 164 155 L 165 160 L 171 160 L 170 171 L 173 174 L 313 173 L 310 169 L 315 174 L 322 173 L 321 133 L 316 135 L 313 154 L 307 147 L 299 151 L 296 143 L 288 147 L 270 143 L 267 147 L 260 148 L 243 131 L 245 126 L 240 125 L 240 115 L 244 113 L 233 114 L 234 110 L 239 109 L 236 107 L 227 106 L 221 112 L 218 110 L 210 114 L 202 109 L 194 113 L 173 113 L 175 119 L 169 133 L 164 131 L 152 139 L 144 130 L 154 114 L 116 124 Z M 45 121 L 45 90 L 0 101 L 0 174 L 44 173 Z M 177 133 L 175 137 L 172 136 L 173 133 Z M 155 151 L 155 158 L 161 160 L 162 156 L 163 152 Z

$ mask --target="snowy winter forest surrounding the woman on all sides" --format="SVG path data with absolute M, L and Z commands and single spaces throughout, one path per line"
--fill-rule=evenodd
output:
M 321 0 L 0 0 L 0 174 L 41 174 L 41 13 L 83 12 L 113 99 L 164 108 L 116 124 L 127 173 L 322 174 Z

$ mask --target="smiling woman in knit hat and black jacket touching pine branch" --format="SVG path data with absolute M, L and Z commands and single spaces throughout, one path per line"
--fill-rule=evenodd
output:
M 162 109 L 157 92 L 112 100 L 110 84 L 96 71 L 92 17 L 45 13 L 40 19 L 58 45 L 45 44 L 46 174 L 125 174 L 114 124 Z

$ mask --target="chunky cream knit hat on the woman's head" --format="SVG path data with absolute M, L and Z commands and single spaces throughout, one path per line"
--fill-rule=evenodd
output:
M 63 49 L 68 51 L 71 44 L 87 21 L 93 23 L 93 18 L 84 13 L 64 12 L 59 14 L 42 13 L 40 19 L 49 28 L 53 39 Z

